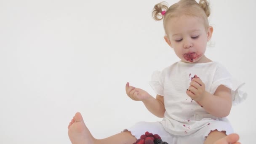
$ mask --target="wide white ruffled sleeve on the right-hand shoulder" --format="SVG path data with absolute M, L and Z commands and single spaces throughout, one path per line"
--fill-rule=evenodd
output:
M 218 67 L 216 69 L 216 74 L 213 79 L 213 84 L 211 85 L 210 93 L 214 94 L 219 85 L 224 85 L 231 90 L 233 105 L 240 104 L 247 98 L 247 93 L 245 93 L 242 89 L 245 83 L 237 81 L 235 78 L 233 78 L 224 67 Z

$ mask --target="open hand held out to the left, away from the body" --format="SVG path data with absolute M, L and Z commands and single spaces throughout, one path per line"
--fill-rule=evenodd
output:
M 126 91 L 126 94 L 134 101 L 144 101 L 150 97 L 147 91 L 144 91 L 140 88 L 135 88 L 129 85 L 129 83 L 126 83 L 125 91 Z

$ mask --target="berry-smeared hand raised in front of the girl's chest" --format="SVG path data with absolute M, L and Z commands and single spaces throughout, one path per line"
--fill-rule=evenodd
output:
M 197 75 L 195 75 L 189 85 L 190 86 L 187 89 L 187 95 L 195 101 L 202 100 L 205 94 L 205 84 L 203 81 L 197 77 Z

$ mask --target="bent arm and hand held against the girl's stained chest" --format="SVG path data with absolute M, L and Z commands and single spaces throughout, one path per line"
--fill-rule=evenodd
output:
M 226 117 L 232 107 L 232 96 L 229 88 L 220 85 L 212 95 L 205 91 L 205 85 L 199 77 L 192 79 L 187 94 L 208 113 L 215 117 Z

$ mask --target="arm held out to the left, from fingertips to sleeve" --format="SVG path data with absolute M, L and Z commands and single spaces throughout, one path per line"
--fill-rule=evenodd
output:
M 135 88 L 129 83 L 125 86 L 126 94 L 134 101 L 142 101 L 146 108 L 151 112 L 153 115 L 157 117 L 163 117 L 165 112 L 165 106 L 163 102 L 163 96 L 157 95 L 156 98 L 151 96 L 146 91 Z

